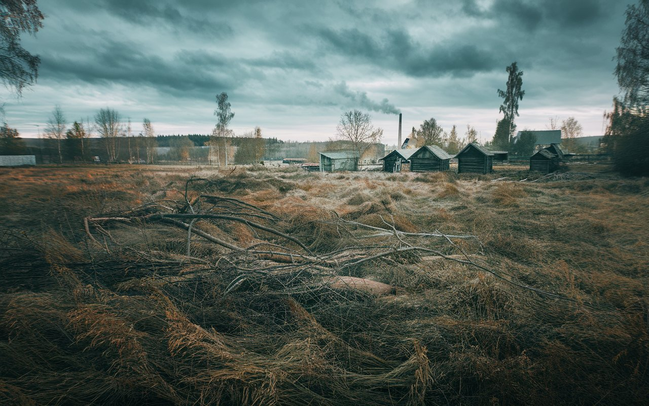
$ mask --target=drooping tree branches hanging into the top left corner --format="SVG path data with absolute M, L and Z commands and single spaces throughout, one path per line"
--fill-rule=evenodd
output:
M 36 34 L 43 14 L 35 0 L 0 1 L 0 81 L 18 95 L 38 76 L 40 58 L 20 45 L 20 34 Z

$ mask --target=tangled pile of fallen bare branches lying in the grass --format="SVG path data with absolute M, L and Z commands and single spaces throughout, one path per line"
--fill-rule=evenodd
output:
M 191 235 L 199 236 L 225 249 L 213 258 L 214 268 L 219 264 L 227 263 L 230 268 L 238 272 L 225 293 L 234 290 L 251 275 L 289 276 L 291 286 L 282 284 L 282 290 L 285 292 L 302 292 L 305 288 L 314 288 L 313 281 L 304 280 L 306 275 L 316 278 L 318 286 L 343 286 L 366 292 L 389 292 L 391 291 L 389 288 L 376 286 L 376 282 L 349 278 L 353 278 L 351 275 L 354 273 L 353 270 L 368 264 L 384 262 L 394 266 L 398 265 L 399 260 L 416 262 L 421 260 L 423 255 L 428 255 L 428 258 L 432 255 L 436 259 L 456 262 L 491 273 L 513 286 L 552 298 L 564 299 L 562 296 L 526 286 L 494 272 L 484 261 L 469 255 L 453 241 L 456 239 L 463 240 L 465 243 L 472 242 L 474 246 L 479 247 L 480 242 L 472 235 L 446 235 L 439 231 L 412 233 L 398 230 L 393 218 L 388 222 L 386 218 L 380 216 L 384 227 L 376 227 L 346 220 L 334 212 L 329 220 L 302 223 L 300 227 L 306 232 L 309 232 L 308 227 L 312 227 L 315 223 L 334 227 L 338 235 L 347 236 L 352 244 L 333 251 L 314 253 L 312 248 L 286 231 L 291 227 L 282 218 L 268 210 L 232 197 L 210 194 L 190 196 L 188 186 L 197 181 L 210 182 L 208 179 L 190 179 L 186 183 L 182 200 L 151 201 L 125 212 L 87 217 L 84 219 L 86 233 L 93 242 L 108 250 L 108 244 L 99 243 L 92 234 L 91 224 L 99 233 L 110 236 L 110 239 L 117 243 L 106 231 L 106 227 L 113 223 L 127 225 L 163 223 L 187 232 L 186 257 L 190 257 L 191 253 Z M 253 232 L 252 244 L 243 246 L 236 230 L 221 233 L 219 236 L 206 231 L 206 229 L 228 230 L 228 224 L 231 223 L 245 225 Z M 341 279 L 344 275 L 347 275 L 347 279 Z

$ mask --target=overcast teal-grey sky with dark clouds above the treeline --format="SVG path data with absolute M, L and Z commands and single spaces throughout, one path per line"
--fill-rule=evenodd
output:
M 40 55 L 38 82 L 6 121 L 36 136 L 55 105 L 67 120 L 115 108 L 158 134 L 211 133 L 227 92 L 236 133 L 326 140 L 343 111 L 369 111 L 397 140 L 435 118 L 490 139 L 506 66 L 526 94 L 519 129 L 574 116 L 602 134 L 618 88 L 615 47 L 633 0 L 40 1 L 43 29 L 23 45 Z

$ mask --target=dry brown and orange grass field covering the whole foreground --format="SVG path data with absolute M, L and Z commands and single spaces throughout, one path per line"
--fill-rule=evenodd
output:
M 539 178 L 1 168 L 0 403 L 646 404 L 649 180 Z

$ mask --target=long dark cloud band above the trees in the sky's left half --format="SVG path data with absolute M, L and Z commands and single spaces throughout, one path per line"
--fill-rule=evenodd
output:
M 88 32 L 88 35 L 96 36 L 97 33 Z M 75 44 L 67 53 L 43 53 L 41 59 L 41 75 L 49 79 L 92 84 L 143 84 L 185 97 L 206 90 L 228 92 L 246 81 L 263 81 L 273 68 L 318 70 L 312 60 L 288 51 L 258 58 L 228 58 L 206 49 L 180 49 L 157 55 L 143 44 L 113 40 L 108 36 L 99 44 Z

